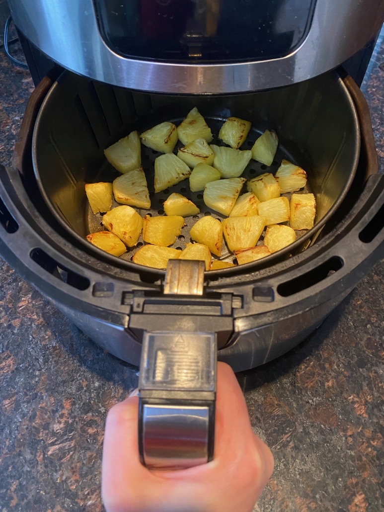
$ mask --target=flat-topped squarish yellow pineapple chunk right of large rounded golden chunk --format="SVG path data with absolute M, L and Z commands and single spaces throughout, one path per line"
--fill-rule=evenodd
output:
M 176 237 L 181 234 L 184 219 L 174 217 L 150 217 L 146 215 L 143 221 L 144 242 L 166 247 L 176 242 Z

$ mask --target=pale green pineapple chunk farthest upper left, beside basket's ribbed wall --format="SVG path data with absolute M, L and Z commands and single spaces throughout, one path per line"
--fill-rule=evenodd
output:
M 131 132 L 104 150 L 106 159 L 115 169 L 124 174 L 141 165 L 141 146 L 137 132 Z

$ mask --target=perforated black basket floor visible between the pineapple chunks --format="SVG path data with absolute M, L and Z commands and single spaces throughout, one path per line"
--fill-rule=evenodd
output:
M 212 135 L 214 136 L 214 139 L 212 140 L 211 144 L 216 144 L 218 146 L 220 145 L 226 145 L 224 144 L 220 139 L 218 139 L 218 133 L 220 131 L 220 128 L 225 121 L 225 119 L 221 118 L 205 118 L 207 124 L 209 125 Z M 173 122 L 176 125 L 179 125 L 181 123 L 182 119 L 172 119 L 170 122 Z M 148 126 L 147 129 L 151 128 L 152 126 Z M 273 129 L 273 126 L 271 126 L 271 129 Z M 241 146 L 241 150 L 250 150 L 251 147 L 254 144 L 254 141 L 260 137 L 262 132 L 259 132 L 257 129 L 253 128 L 249 131 L 247 140 L 244 142 L 244 144 Z M 182 147 L 182 143 L 178 141 L 174 153 L 177 154 L 177 151 L 180 147 Z M 225 216 L 219 214 L 219 212 L 212 210 L 211 208 L 208 208 L 203 201 L 203 190 L 199 192 L 191 192 L 189 188 L 189 179 L 185 179 L 183 181 L 180 181 L 176 185 L 169 187 L 165 190 L 162 190 L 161 192 L 155 194 L 154 189 L 154 177 L 155 177 L 155 159 L 160 156 L 161 153 L 158 151 L 153 151 L 150 148 L 141 145 L 141 165 L 143 166 L 147 184 L 148 184 L 148 190 L 150 191 L 150 198 L 151 198 L 151 208 L 149 209 L 143 209 L 143 208 L 135 208 L 136 211 L 141 215 L 141 217 L 144 217 L 145 215 L 151 215 L 152 217 L 156 216 L 163 216 L 164 210 L 163 210 L 163 203 L 166 201 L 169 194 L 172 194 L 174 192 L 177 192 L 179 194 L 182 194 L 183 196 L 190 199 L 193 203 L 196 204 L 196 206 L 200 209 L 200 214 L 195 215 L 193 217 L 186 217 L 184 218 L 184 227 L 181 230 L 180 236 L 176 239 L 176 242 L 171 246 L 175 249 L 184 249 L 186 244 L 189 242 L 193 242 L 189 236 L 189 230 L 190 228 L 196 223 L 198 219 L 201 217 L 204 217 L 206 215 L 211 215 L 215 219 L 219 219 L 220 221 L 225 219 Z M 247 165 L 246 169 L 244 170 L 244 173 L 242 174 L 242 177 L 248 179 L 254 178 L 255 176 L 259 176 L 263 173 L 272 173 L 275 174 L 276 170 L 278 170 L 281 161 L 283 159 L 289 160 L 293 163 L 295 163 L 295 158 L 289 154 L 287 151 L 285 151 L 284 147 L 282 147 L 281 144 L 278 146 L 278 151 L 276 152 L 275 159 L 270 167 L 267 167 L 266 165 L 261 164 L 260 162 L 255 162 L 254 160 L 250 160 L 249 164 Z M 96 173 L 94 183 L 97 183 L 98 181 L 108 181 L 112 182 L 115 178 L 118 176 L 121 176 L 120 173 L 112 167 L 108 162 L 105 162 L 105 166 L 100 168 L 98 172 Z M 243 190 L 241 194 L 244 194 L 246 192 L 246 183 L 244 184 Z M 310 188 L 307 186 L 299 192 L 299 194 L 309 194 L 311 193 Z M 290 199 L 291 194 L 283 194 L 283 196 Z M 88 203 L 88 202 L 87 202 Z M 117 203 L 113 199 L 113 207 L 120 206 L 119 203 Z M 88 227 L 88 233 L 95 233 L 97 231 L 103 231 L 105 228 L 102 225 L 101 218 L 102 214 L 93 214 L 91 207 L 89 204 L 87 205 L 86 209 L 86 225 Z M 285 223 L 288 224 L 288 223 Z M 305 234 L 307 231 L 297 231 L 296 230 L 296 239 L 300 238 Z M 264 233 L 260 237 L 260 240 L 257 245 L 263 245 L 264 241 Z M 135 252 L 140 249 L 140 247 L 145 244 L 142 235 L 140 235 L 140 238 L 137 242 L 137 245 L 135 247 L 127 247 L 127 252 L 125 252 L 120 259 L 122 260 L 132 260 L 133 255 Z M 218 258 L 214 255 L 212 257 L 216 260 L 221 260 L 225 262 L 235 263 L 237 264 L 237 260 L 234 257 L 234 254 L 232 254 L 228 247 L 226 246 L 226 243 L 224 241 L 223 237 L 223 245 L 221 250 L 221 257 Z

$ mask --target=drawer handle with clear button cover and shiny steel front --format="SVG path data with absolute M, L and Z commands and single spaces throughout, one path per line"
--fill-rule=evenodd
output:
M 213 456 L 214 333 L 145 333 L 139 377 L 139 453 L 151 469 L 177 470 Z

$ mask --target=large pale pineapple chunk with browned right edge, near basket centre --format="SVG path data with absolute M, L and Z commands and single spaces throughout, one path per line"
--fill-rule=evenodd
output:
M 245 178 L 229 178 L 207 183 L 204 189 L 204 203 L 208 208 L 228 216 L 245 181 Z

